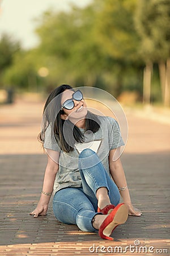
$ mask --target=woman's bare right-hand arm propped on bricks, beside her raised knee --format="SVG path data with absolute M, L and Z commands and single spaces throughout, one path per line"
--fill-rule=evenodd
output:
M 117 148 L 117 150 L 120 151 L 120 148 L 119 149 Z M 126 187 L 127 181 L 125 177 L 124 168 L 122 167 L 121 159 L 118 158 L 116 161 L 113 162 L 113 156 L 115 152 L 116 152 L 116 148 L 111 150 L 109 153 L 109 169 L 110 169 L 111 176 L 118 188 L 126 188 L 125 190 L 120 191 L 120 194 L 122 196 L 124 203 L 128 205 L 129 215 L 141 216 L 141 213 L 138 212 L 138 210 L 135 210 L 133 208 L 133 205 L 131 204 L 129 189 L 128 187 Z

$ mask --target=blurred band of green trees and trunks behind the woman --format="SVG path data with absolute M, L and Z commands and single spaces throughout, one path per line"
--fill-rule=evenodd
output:
M 49 93 L 96 86 L 121 101 L 170 102 L 170 1 L 93 0 L 36 21 L 39 46 L 3 35 L 0 88 Z

